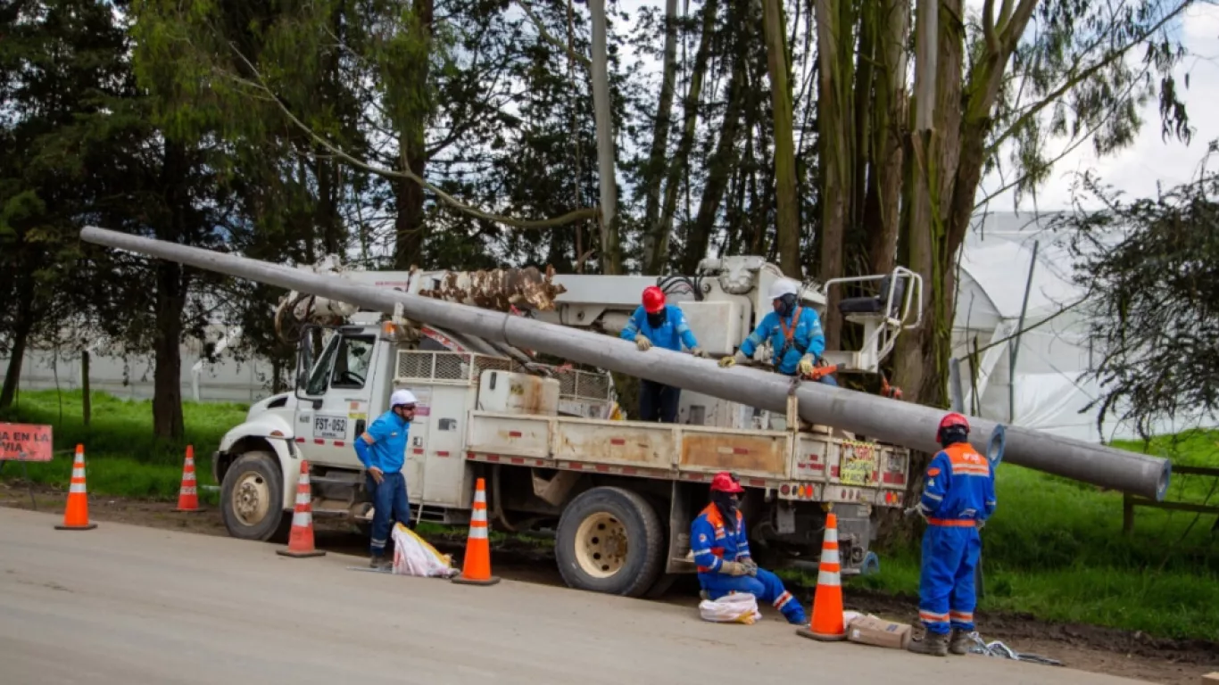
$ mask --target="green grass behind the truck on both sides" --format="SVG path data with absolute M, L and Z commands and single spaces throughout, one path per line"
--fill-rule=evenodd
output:
M 147 401 L 95 392 L 85 428 L 80 394 L 22 392 L 0 421 L 54 425 L 50 464 L 29 464 L 33 479 L 67 488 L 72 453 L 85 445 L 89 490 L 128 497 L 177 497 L 183 450 L 195 447 L 200 484 L 215 484 L 210 455 L 226 430 L 245 418 L 244 405 L 184 406 L 187 440 L 163 445 L 151 438 Z M 62 411 L 62 413 L 61 413 Z M 62 417 L 62 418 L 61 418 Z M 1219 433 L 1157 439 L 1147 451 L 1175 464 L 1219 467 Z M 1142 444 L 1119 447 L 1143 451 Z M 5 464 L 2 478 L 21 475 Z M 1174 474 L 1168 499 L 1219 503 L 1214 479 Z M 1214 516 L 1136 509 L 1134 535 L 1121 534 L 1121 495 L 1014 464 L 998 469 L 998 511 L 983 531 L 983 609 L 1026 612 L 1041 619 L 1108 625 L 1165 637 L 1219 641 L 1219 531 Z M 201 497 L 215 503 L 213 492 Z M 876 550 L 880 573 L 853 584 L 895 594 L 918 594 L 914 546 Z M 985 626 L 981 626 L 985 630 Z

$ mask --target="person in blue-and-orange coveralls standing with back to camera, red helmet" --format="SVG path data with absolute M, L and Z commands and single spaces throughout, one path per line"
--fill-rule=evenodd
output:
M 990 461 L 969 446 L 969 421 L 950 413 L 940 421 L 936 441 L 944 447 L 926 467 L 919 503 L 906 514 L 926 519 L 918 617 L 926 636 L 912 652 L 942 657 L 969 651 L 974 631 L 974 569 L 981 555 L 978 530 L 995 513 L 995 474 Z M 952 636 L 948 636 L 948 630 Z

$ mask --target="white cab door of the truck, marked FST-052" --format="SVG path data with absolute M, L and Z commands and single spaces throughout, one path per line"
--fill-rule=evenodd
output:
M 368 412 L 378 344 L 385 342 L 362 328 L 340 329 L 327 341 L 297 403 L 296 444 L 306 460 L 361 468 L 352 441 L 375 418 Z

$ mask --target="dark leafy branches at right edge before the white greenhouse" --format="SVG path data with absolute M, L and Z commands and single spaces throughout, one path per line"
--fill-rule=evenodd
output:
M 1126 419 L 1146 436 L 1159 422 L 1195 423 L 1219 410 L 1215 151 L 1212 143 L 1193 180 L 1156 197 L 1126 200 L 1085 173 L 1076 202 L 1103 208 L 1054 219 L 1070 232 L 1075 282 L 1093 307 L 1098 422 Z

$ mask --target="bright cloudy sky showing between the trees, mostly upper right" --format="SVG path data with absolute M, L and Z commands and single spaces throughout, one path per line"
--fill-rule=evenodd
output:
M 679 4 L 683 6 L 685 0 Z M 692 5 L 692 2 L 691 2 Z M 965 0 L 967 12 L 979 12 L 983 0 Z M 639 9 L 651 6 L 664 10 L 664 0 L 617 0 L 616 6 L 630 13 L 634 21 Z M 622 28 L 619 28 L 622 30 Z M 1156 194 L 1156 184 L 1165 189 L 1190 178 L 1197 172 L 1198 163 L 1207 151 L 1210 140 L 1219 139 L 1219 5 L 1199 2 L 1186 11 L 1180 22 L 1184 43 L 1191 56 L 1186 57 L 1175 71 L 1178 88 L 1184 87 L 1189 73 L 1190 87 L 1182 95 L 1190 115 L 1190 126 L 1195 129 L 1189 145 L 1175 139 L 1160 139 L 1158 100 L 1152 99 L 1143 108 L 1143 126 L 1135 141 L 1129 147 L 1097 158 L 1090 143 L 1076 147 L 1054 165 L 1050 178 L 1037 189 L 1036 197 L 1025 196 L 1019 206 L 1014 206 L 1011 190 L 991 200 L 992 212 L 1032 212 L 1058 211 L 1072 208 L 1072 183 L 1076 173 L 1092 171 L 1102 182 L 1130 196 L 1151 196 Z M 1130 59 L 1141 57 L 1140 49 L 1131 51 Z M 646 60 L 646 71 L 659 71 L 655 60 Z M 1051 144 L 1050 150 L 1057 150 L 1057 156 L 1067 140 Z M 978 199 L 983 199 L 1003 183 L 997 174 L 983 178 Z

